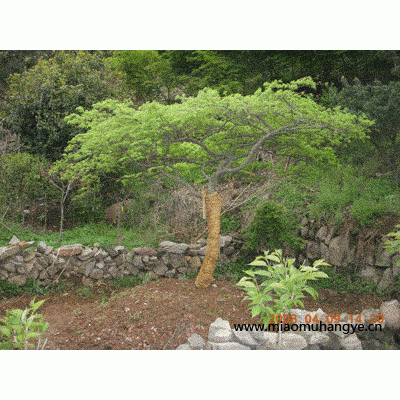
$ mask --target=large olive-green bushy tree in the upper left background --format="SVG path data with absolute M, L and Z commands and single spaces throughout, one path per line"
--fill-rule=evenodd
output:
M 6 94 L 7 125 L 20 135 L 30 153 L 48 160 L 60 158 L 78 132 L 64 117 L 76 107 L 120 94 L 101 53 L 56 52 L 34 67 L 10 78 Z

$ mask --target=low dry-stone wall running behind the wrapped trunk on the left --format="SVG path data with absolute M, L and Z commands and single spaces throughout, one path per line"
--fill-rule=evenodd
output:
M 36 248 L 35 248 L 36 246 Z M 220 240 L 220 259 L 234 259 L 237 249 L 231 236 Z M 106 279 L 147 274 L 151 277 L 178 277 L 196 274 L 204 260 L 206 241 L 195 244 L 164 241 L 157 249 L 123 246 L 92 247 L 81 244 L 54 249 L 46 243 L 20 241 L 13 236 L 7 247 L 0 247 L 0 280 L 23 285 L 28 278 L 54 283 L 60 278 L 78 278 L 85 285 Z

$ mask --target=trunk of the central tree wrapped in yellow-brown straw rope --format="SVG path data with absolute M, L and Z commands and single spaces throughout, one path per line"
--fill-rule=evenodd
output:
M 217 192 L 205 193 L 205 208 L 207 215 L 207 251 L 203 265 L 197 275 L 196 287 L 209 287 L 214 280 L 215 264 L 219 256 L 219 239 L 221 228 L 221 197 Z

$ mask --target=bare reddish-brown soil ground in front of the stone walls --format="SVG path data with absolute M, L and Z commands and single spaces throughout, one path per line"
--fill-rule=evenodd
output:
M 65 293 L 36 296 L 46 299 L 38 312 L 49 322 L 44 334 L 46 349 L 119 350 L 175 349 L 193 333 L 205 340 L 218 317 L 234 323 L 259 323 L 251 318 L 244 292 L 235 282 L 217 279 L 207 289 L 196 289 L 194 279 L 160 279 L 133 288 L 113 291 L 108 286 L 92 288 L 93 295 L 79 295 L 69 287 Z M 338 294 L 320 290 L 318 301 L 307 297 L 305 309 L 322 308 L 328 314 L 357 314 L 379 308 L 386 298 Z M 25 309 L 34 296 L 0 300 L 0 318 L 5 310 Z

